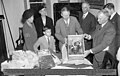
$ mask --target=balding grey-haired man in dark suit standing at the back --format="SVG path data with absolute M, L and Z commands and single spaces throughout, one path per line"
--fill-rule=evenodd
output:
M 83 30 L 83 33 L 92 34 L 95 31 L 97 20 L 94 15 L 90 12 L 90 5 L 87 2 L 82 3 L 83 15 L 79 17 L 80 25 Z M 92 48 L 92 40 L 85 40 L 85 49 L 89 50 Z M 89 54 L 86 57 L 88 60 L 93 62 L 93 54 Z

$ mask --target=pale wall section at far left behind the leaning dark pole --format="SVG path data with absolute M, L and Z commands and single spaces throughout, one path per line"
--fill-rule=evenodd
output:
M 12 40 L 10 37 L 10 32 L 8 29 L 8 24 L 6 19 L 8 19 L 8 23 L 10 26 L 10 30 L 12 33 L 12 37 L 14 40 L 14 44 L 16 46 L 15 41 L 18 39 L 19 37 L 19 27 L 22 27 L 21 24 L 21 16 L 22 13 L 24 12 L 25 8 L 24 8 L 24 0 L 3 0 L 4 6 L 5 6 L 5 12 L 6 12 L 6 16 L 5 16 L 5 20 L 4 20 L 4 30 L 5 30 L 5 37 L 7 37 L 6 41 L 7 41 L 7 48 L 10 51 L 13 51 L 13 44 L 12 44 Z M 3 9 L 1 9 L 3 10 Z

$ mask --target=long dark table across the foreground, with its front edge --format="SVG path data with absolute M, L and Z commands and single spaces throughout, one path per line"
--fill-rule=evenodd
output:
M 59 76 L 59 75 L 116 75 L 116 69 L 88 69 L 92 65 L 80 64 L 60 64 L 59 66 L 66 66 L 70 68 L 64 69 L 4 69 L 5 75 L 24 75 L 24 76 Z

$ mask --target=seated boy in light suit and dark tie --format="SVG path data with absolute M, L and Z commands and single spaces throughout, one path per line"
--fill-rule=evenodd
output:
M 40 37 L 34 44 L 34 50 L 40 52 L 41 50 L 49 50 L 51 53 L 55 52 L 55 39 L 51 36 L 51 29 L 49 27 L 44 27 L 44 36 Z M 40 46 L 40 50 L 38 47 Z

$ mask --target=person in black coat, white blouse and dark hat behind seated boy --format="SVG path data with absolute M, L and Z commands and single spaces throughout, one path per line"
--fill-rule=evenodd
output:
M 43 36 L 43 29 L 44 27 L 49 27 L 51 28 L 52 31 L 52 35 L 54 36 L 54 25 L 53 25 L 53 20 L 52 18 L 47 16 L 47 11 L 46 11 L 46 6 L 42 5 L 41 7 L 39 7 L 39 14 L 35 15 L 35 20 L 34 20 L 34 24 L 36 27 L 36 31 L 37 31 L 37 37 L 41 37 Z

